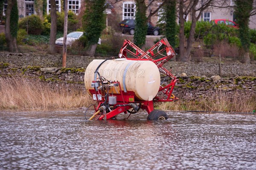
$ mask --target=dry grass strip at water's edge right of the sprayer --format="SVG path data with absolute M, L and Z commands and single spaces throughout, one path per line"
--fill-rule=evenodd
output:
M 191 101 L 160 103 L 158 107 L 173 111 L 253 112 L 256 109 L 256 95 L 240 96 L 239 93 L 235 93 L 227 98 L 216 94 Z

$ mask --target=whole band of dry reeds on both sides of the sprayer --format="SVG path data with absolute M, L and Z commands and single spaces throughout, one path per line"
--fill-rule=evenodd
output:
M 74 84 L 51 85 L 34 79 L 0 78 L 0 109 L 16 110 L 67 110 L 94 104 L 85 89 Z M 214 95 L 199 96 L 196 100 L 156 103 L 162 110 L 252 112 L 256 109 L 256 95 L 241 95 L 238 91 L 226 97 L 216 90 Z

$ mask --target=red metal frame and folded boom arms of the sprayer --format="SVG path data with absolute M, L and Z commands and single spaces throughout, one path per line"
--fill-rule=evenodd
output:
M 135 52 L 134 52 L 135 51 Z M 127 55 L 131 55 L 132 58 L 129 58 Z M 159 58 L 160 56 L 160 58 Z M 146 52 L 144 52 L 142 49 L 137 47 L 134 43 L 132 43 L 130 40 L 125 40 L 123 43 L 122 48 L 119 52 L 119 58 L 127 58 L 127 60 L 147 60 L 154 62 L 160 73 L 163 73 L 164 75 L 167 75 L 172 79 L 170 84 L 166 86 L 159 87 L 157 95 L 154 97 L 154 102 L 170 102 L 170 101 L 176 101 L 178 98 L 172 94 L 172 91 L 175 87 L 175 84 L 177 83 L 178 79 L 167 69 L 163 67 L 163 64 L 169 61 L 171 58 L 175 56 L 175 51 L 172 48 L 172 46 L 169 44 L 168 40 L 166 38 L 163 38 L 159 42 L 157 42 L 154 46 L 152 46 L 150 49 L 148 49 Z M 127 113 L 129 112 L 128 109 L 132 109 L 131 103 L 139 104 L 139 109 L 145 109 L 148 114 L 153 111 L 154 104 L 153 101 L 140 101 L 137 100 L 135 93 L 131 91 L 125 92 L 123 89 L 121 89 L 120 83 L 118 81 L 111 82 L 112 84 L 118 84 L 115 88 L 119 89 L 119 94 L 115 94 L 117 97 L 117 103 L 114 105 L 111 105 L 111 108 L 108 110 L 109 112 L 102 112 L 99 116 L 99 120 L 102 119 L 109 119 L 113 118 L 119 113 Z M 105 92 L 102 90 L 99 90 L 96 92 L 95 89 L 89 90 L 91 94 L 97 94 L 104 93 L 102 96 L 105 95 Z M 110 93 L 111 94 L 111 93 Z M 101 98 L 101 100 L 96 97 L 98 107 L 95 111 L 99 110 L 99 108 L 104 104 L 105 98 Z M 108 99 L 107 99 L 108 100 Z M 105 102 L 106 103 L 106 102 Z M 120 106 L 124 105 L 124 106 Z M 133 109 L 134 110 L 134 109 Z M 137 111 L 136 111 L 137 112 Z

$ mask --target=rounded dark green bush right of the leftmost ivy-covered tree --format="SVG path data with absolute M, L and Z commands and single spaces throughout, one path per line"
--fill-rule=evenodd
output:
M 43 31 L 43 23 L 37 15 L 25 17 L 19 22 L 20 29 L 28 29 L 28 33 L 32 35 L 40 35 Z

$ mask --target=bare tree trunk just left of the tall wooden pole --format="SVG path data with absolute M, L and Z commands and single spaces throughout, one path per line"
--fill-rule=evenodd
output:
M 55 40 L 57 33 L 57 14 L 56 14 L 56 1 L 50 0 L 51 3 L 51 32 L 49 41 L 49 52 L 55 52 Z

